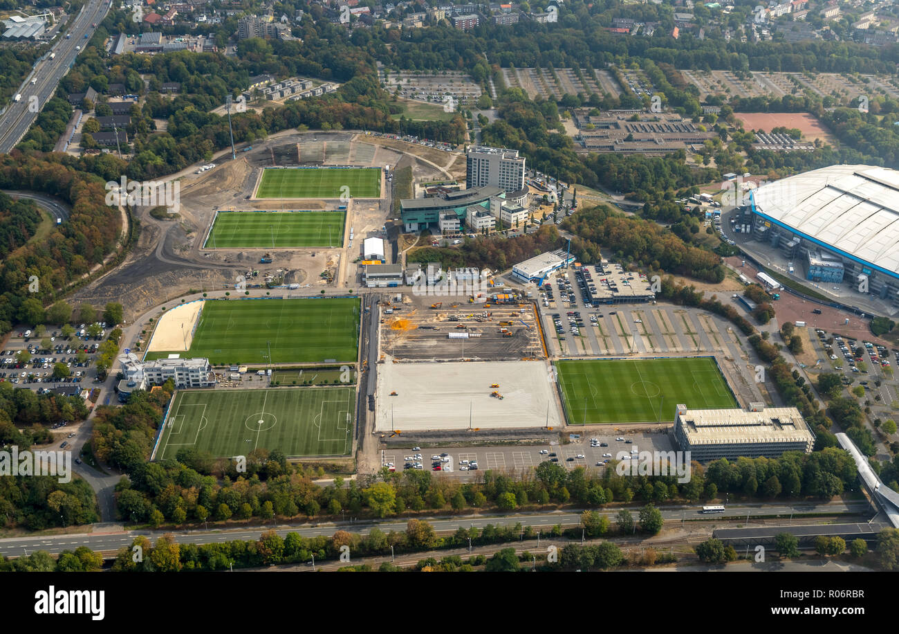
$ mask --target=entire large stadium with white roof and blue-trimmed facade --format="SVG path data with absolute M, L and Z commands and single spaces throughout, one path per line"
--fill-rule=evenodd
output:
M 899 305 L 899 172 L 832 165 L 750 193 L 752 237 L 805 267 L 809 281 L 867 277 L 868 292 Z

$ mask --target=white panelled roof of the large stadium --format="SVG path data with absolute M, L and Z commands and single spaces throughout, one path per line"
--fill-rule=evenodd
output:
M 899 172 L 832 165 L 762 185 L 753 210 L 836 253 L 899 275 Z

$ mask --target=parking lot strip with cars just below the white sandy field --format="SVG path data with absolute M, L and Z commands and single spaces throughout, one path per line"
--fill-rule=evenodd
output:
M 432 470 L 441 475 L 472 479 L 477 471 L 486 469 L 521 472 L 534 469 L 540 462 L 556 462 L 565 469 L 584 467 L 600 471 L 607 469 L 612 460 L 622 459 L 637 451 L 673 451 L 675 448 L 667 433 L 622 432 L 608 428 L 596 432 L 571 434 L 565 444 L 529 445 L 523 447 L 465 447 L 465 448 L 417 448 L 408 450 L 388 449 L 381 452 L 382 466 L 397 472 L 404 469 Z M 617 439 L 622 440 L 617 440 Z M 592 442 L 595 440 L 595 442 Z M 608 454 L 608 455 L 607 455 Z M 415 460 L 420 455 L 421 459 Z M 407 460 L 413 459 L 413 460 Z M 416 467 L 416 463 L 420 466 Z M 437 467 L 440 469 L 436 469 Z

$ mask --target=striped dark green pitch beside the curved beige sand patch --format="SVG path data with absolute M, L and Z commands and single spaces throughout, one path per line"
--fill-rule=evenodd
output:
M 160 359 L 206 357 L 232 363 L 356 362 L 360 300 L 210 299 L 203 303 L 191 349 L 147 353 Z

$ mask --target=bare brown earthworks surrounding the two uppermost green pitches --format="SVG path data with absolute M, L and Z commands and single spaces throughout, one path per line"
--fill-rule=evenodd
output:
M 178 183 L 178 213 L 172 219 L 159 220 L 150 216 L 149 208 L 133 210 L 133 216 L 139 222 L 139 236 L 125 261 L 77 290 L 69 301 L 93 306 L 117 301 L 125 307 L 125 317 L 130 320 L 189 290 L 233 288 L 236 277 L 249 271 L 259 272 L 258 277 L 249 282 L 251 285 L 262 283 L 266 273 L 280 273 L 284 275 L 285 283 L 296 282 L 303 288 L 321 286 L 325 282 L 320 274 L 326 270 L 335 272 L 342 263 L 356 259 L 358 245 L 352 246 L 352 253 L 347 252 L 349 246 L 346 249 L 279 249 L 271 264 L 259 262 L 264 249 L 202 249 L 216 210 L 282 208 L 283 205 L 272 207 L 271 203 L 247 198 L 253 194 L 256 175 L 262 167 L 271 165 L 272 147 L 302 144 L 313 138 L 348 141 L 352 146 L 351 156 L 355 156 L 356 146 L 374 146 L 376 151 L 369 152 L 372 165 L 412 161 L 416 177 L 436 175 L 444 165 L 453 163 L 461 165 L 460 174 L 464 173 L 465 161 L 461 155 L 357 131 L 285 131 L 254 143 L 251 151 L 238 153 L 236 160 L 231 159 L 231 150 L 227 148 L 213 157 L 217 166 L 208 172 L 195 174 L 199 165 L 191 165 L 168 179 L 157 179 Z M 440 162 L 435 168 L 422 156 L 432 156 Z M 314 209 L 317 204 L 316 201 L 303 202 L 303 209 Z M 380 212 L 383 218 L 369 219 L 370 224 L 379 227 L 387 219 L 388 211 L 389 202 L 386 202 Z M 325 287 L 334 283 L 325 283 Z M 349 283 L 353 285 L 352 281 Z

